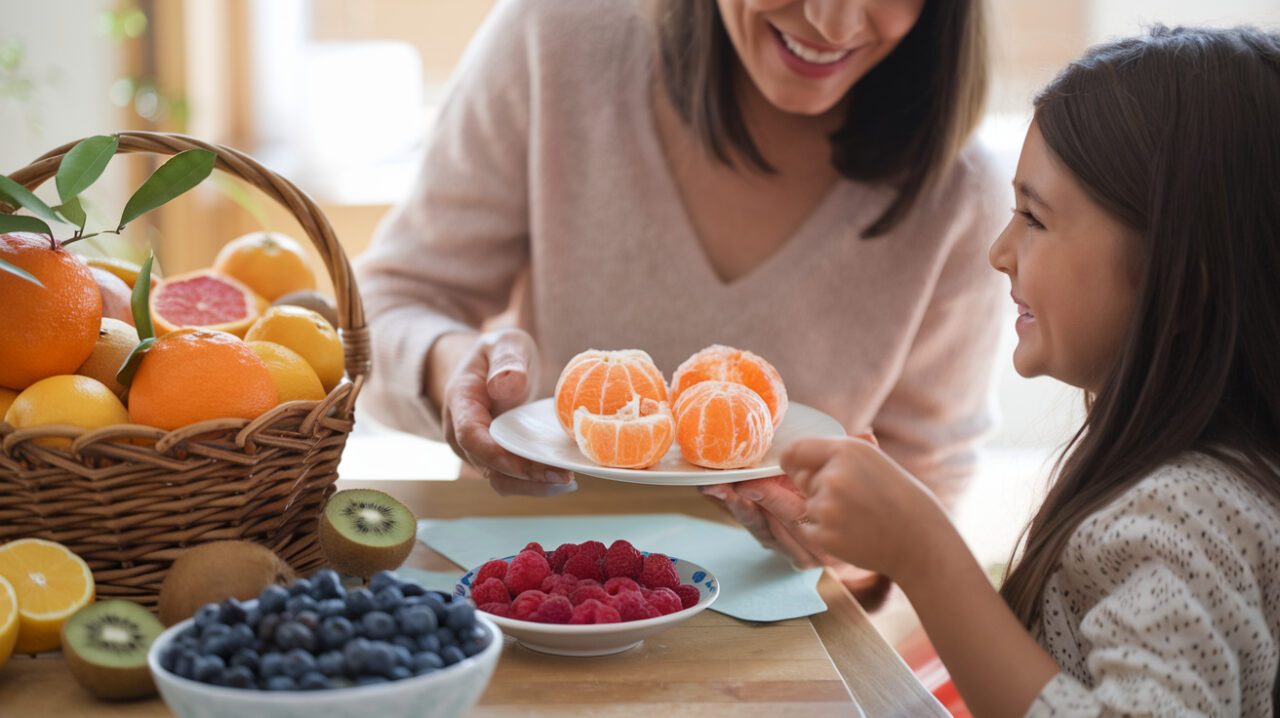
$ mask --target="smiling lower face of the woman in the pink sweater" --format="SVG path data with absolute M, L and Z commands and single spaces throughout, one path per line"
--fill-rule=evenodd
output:
M 836 106 L 901 42 L 924 6 L 924 0 L 717 1 L 739 60 L 760 93 L 778 109 L 803 115 Z

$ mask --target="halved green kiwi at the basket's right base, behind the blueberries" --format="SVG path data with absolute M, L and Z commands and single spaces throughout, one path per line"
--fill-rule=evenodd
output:
M 334 568 L 367 578 L 399 568 L 413 550 L 417 521 L 404 504 L 372 489 L 338 491 L 320 516 L 320 549 Z

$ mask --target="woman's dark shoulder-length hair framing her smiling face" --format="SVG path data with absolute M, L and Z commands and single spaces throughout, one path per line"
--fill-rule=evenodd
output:
M 717 3 L 666 0 L 658 40 L 667 92 L 703 145 L 726 164 L 739 155 L 773 172 L 742 120 L 739 59 Z M 845 123 L 831 136 L 832 165 L 897 189 L 863 237 L 893 229 L 960 151 L 982 118 L 987 73 L 982 0 L 927 0 L 915 27 L 849 91 Z

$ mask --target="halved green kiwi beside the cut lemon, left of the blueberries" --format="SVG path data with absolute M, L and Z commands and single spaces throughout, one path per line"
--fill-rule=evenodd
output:
M 147 650 L 161 631 L 156 617 L 136 603 L 100 600 L 63 623 L 63 658 L 76 682 L 97 698 L 152 695 Z

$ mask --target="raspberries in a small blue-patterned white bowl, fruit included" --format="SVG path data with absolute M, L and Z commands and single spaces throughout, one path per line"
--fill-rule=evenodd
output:
M 719 584 L 701 566 L 617 540 L 531 543 L 465 575 L 453 590 L 529 649 L 609 655 L 709 607 Z

